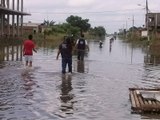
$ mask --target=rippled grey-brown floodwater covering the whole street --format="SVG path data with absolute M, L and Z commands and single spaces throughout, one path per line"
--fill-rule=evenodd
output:
M 0 62 L 1 120 L 159 120 L 133 114 L 129 88 L 160 86 L 160 66 L 147 50 L 121 40 L 89 42 L 84 63 L 73 56 L 73 73 L 61 74 L 57 49 L 40 47 L 32 68 Z M 154 61 L 154 62 L 152 62 Z

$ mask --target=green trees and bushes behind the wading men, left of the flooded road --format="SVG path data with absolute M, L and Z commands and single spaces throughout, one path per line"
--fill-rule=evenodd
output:
M 80 34 L 85 33 L 88 38 L 104 38 L 106 35 L 105 28 L 102 26 L 92 28 L 89 19 L 82 19 L 79 16 L 69 16 L 65 23 L 55 24 L 55 22 L 44 20 L 42 25 L 47 26 L 44 31 L 46 40 L 62 40 L 64 36 L 74 36 L 77 38 Z

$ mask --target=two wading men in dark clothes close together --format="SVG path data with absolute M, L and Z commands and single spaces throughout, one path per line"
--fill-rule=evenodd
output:
M 66 73 L 66 67 L 68 66 L 68 72 L 72 73 L 72 52 L 73 49 L 77 50 L 77 60 L 84 60 L 85 50 L 89 51 L 89 46 L 87 41 L 84 39 L 84 35 L 81 35 L 76 41 L 76 44 L 72 44 L 71 38 L 67 37 L 64 41 L 59 45 L 57 60 L 59 55 L 62 57 L 62 74 Z

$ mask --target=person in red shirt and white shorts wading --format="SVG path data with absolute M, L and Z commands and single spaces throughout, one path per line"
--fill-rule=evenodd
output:
M 32 38 L 33 36 L 29 35 L 28 39 L 23 43 L 23 56 L 25 58 L 25 65 L 29 67 L 32 67 L 33 51 L 37 52 L 35 49 L 35 43 L 33 42 Z

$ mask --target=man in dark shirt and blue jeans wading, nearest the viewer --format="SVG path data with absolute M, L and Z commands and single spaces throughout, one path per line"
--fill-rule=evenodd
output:
M 66 67 L 68 65 L 68 72 L 72 73 L 72 43 L 69 37 L 65 38 L 63 42 L 59 45 L 57 60 L 61 54 L 62 57 L 62 74 L 66 73 Z

